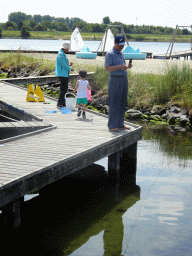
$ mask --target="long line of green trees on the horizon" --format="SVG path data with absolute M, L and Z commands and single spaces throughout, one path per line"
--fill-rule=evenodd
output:
M 22 12 L 13 12 L 8 16 L 8 21 L 0 24 L 0 36 L 2 30 L 20 30 L 23 37 L 30 37 L 30 31 L 64 31 L 70 32 L 79 27 L 81 32 L 97 32 L 103 33 L 106 30 L 107 25 L 122 26 L 126 35 L 129 34 L 156 34 L 156 35 L 171 35 L 174 32 L 174 28 L 153 26 L 153 25 L 133 25 L 123 24 L 121 22 L 111 22 L 108 16 L 104 17 L 101 24 L 99 23 L 87 23 L 80 18 L 56 18 L 50 15 L 27 15 Z M 119 27 L 112 27 L 114 34 L 121 33 Z M 178 29 L 177 34 L 188 35 L 191 34 L 188 29 Z

